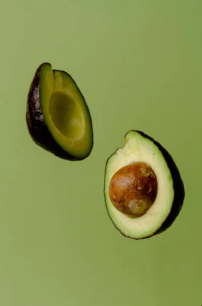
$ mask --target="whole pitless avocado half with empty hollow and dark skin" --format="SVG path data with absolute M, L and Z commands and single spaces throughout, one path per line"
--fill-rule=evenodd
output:
M 83 160 L 93 148 L 90 111 L 71 75 L 41 64 L 27 97 L 26 124 L 33 141 L 53 155 Z

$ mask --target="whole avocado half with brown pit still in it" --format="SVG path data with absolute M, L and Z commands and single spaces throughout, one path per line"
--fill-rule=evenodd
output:
M 106 162 L 104 196 L 113 224 L 126 237 L 149 238 L 174 222 L 185 190 L 168 151 L 139 131 L 125 135 L 125 146 Z

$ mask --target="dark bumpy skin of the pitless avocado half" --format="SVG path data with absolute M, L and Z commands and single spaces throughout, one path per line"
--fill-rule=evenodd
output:
M 79 161 L 81 159 L 77 159 L 74 156 L 68 154 L 68 152 L 63 150 L 63 148 L 56 143 L 45 123 L 40 106 L 40 88 L 39 88 L 40 69 L 44 64 L 50 65 L 49 63 L 43 63 L 38 67 L 27 96 L 26 125 L 28 132 L 30 133 L 30 136 L 37 145 L 47 150 L 48 152 L 52 153 L 53 155 L 64 160 Z M 92 148 L 93 148 L 93 141 L 88 156 L 91 154 Z M 85 156 L 85 158 L 88 156 Z

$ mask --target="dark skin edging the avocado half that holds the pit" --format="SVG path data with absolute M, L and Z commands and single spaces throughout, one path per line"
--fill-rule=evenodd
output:
M 172 225 L 172 223 L 176 220 L 176 218 L 178 217 L 182 207 L 183 207 L 183 203 L 184 203 L 184 198 L 185 198 L 185 189 L 184 189 L 184 183 L 182 181 L 180 172 L 178 170 L 178 167 L 176 166 L 176 163 L 174 162 L 174 160 L 172 159 L 172 157 L 170 156 L 170 154 L 168 153 L 168 151 L 156 140 L 154 140 L 152 137 L 148 136 L 147 134 L 140 132 L 140 131 L 136 131 L 136 130 L 131 130 L 129 132 L 137 132 L 139 133 L 141 136 L 148 138 L 150 141 L 152 141 L 161 151 L 167 165 L 168 168 L 170 170 L 171 173 L 171 177 L 172 177 L 172 182 L 174 185 L 174 200 L 172 202 L 172 207 L 171 210 L 169 212 L 169 215 L 167 216 L 167 218 L 163 221 L 163 223 L 161 224 L 161 226 L 159 227 L 159 229 L 154 232 L 152 235 L 148 236 L 148 237 L 142 237 L 142 238 L 132 238 L 129 236 L 124 235 L 120 229 L 113 223 L 113 220 L 111 219 L 111 217 L 109 216 L 109 218 L 111 219 L 112 223 L 114 224 L 114 226 L 117 228 L 117 230 L 124 236 L 127 238 L 131 238 L 134 240 L 140 240 L 140 239 L 148 239 L 151 238 L 155 235 L 161 234 L 163 232 L 165 232 L 167 230 L 168 227 L 170 227 Z M 129 133 L 128 132 L 128 133 Z M 128 134 L 127 133 L 127 134 Z M 126 134 L 126 135 L 127 135 Z M 125 137 L 126 137 L 125 135 Z M 109 159 L 116 154 L 116 152 L 114 152 L 108 159 L 106 162 L 106 166 L 107 163 L 109 161 Z M 106 167 L 105 167 L 105 172 L 106 172 Z M 108 210 L 107 210 L 108 213 Z M 109 213 L 108 213 L 109 215 Z

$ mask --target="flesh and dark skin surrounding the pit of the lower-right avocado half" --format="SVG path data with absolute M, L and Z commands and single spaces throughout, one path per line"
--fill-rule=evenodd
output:
M 153 169 L 158 188 L 153 205 L 146 213 L 131 217 L 112 205 L 109 186 L 117 171 L 135 162 L 146 163 Z M 164 232 L 175 221 L 183 206 L 185 190 L 180 172 L 168 151 L 145 133 L 129 131 L 125 135 L 125 146 L 107 159 L 104 196 L 108 215 L 121 234 L 132 239 L 144 239 Z

